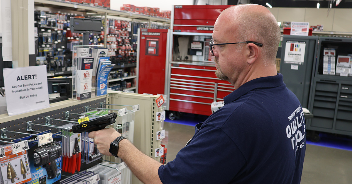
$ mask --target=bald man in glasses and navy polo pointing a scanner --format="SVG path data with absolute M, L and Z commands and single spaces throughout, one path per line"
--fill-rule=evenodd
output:
M 216 76 L 235 91 L 225 106 L 196 125 L 196 133 L 174 161 L 161 165 L 128 140 L 118 156 L 143 183 L 299 184 L 306 132 L 301 104 L 276 73 L 280 29 L 274 15 L 260 5 L 224 10 L 214 25 L 210 54 Z M 101 153 L 120 134 L 91 132 Z

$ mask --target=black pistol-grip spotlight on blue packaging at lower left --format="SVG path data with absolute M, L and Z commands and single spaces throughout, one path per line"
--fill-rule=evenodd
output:
M 55 159 L 61 157 L 62 148 L 61 145 L 54 141 L 48 146 L 42 146 L 34 150 L 34 167 L 43 165 L 46 169 L 48 179 L 56 177 L 57 166 Z

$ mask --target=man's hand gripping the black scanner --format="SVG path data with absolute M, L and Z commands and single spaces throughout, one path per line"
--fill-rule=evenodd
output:
M 121 134 L 114 128 L 105 128 L 88 134 L 89 138 L 94 139 L 94 144 L 96 144 L 96 148 L 98 148 L 100 153 L 105 154 L 106 156 L 112 156 L 109 152 L 110 143 L 120 136 Z

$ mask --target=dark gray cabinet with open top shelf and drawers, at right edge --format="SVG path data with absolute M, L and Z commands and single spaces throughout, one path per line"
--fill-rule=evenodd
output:
M 352 54 L 351 38 L 320 37 L 318 59 L 314 64 L 308 109 L 314 115 L 307 120 L 307 129 L 352 135 L 352 76 L 323 75 L 323 50 L 335 49 L 338 56 Z M 351 56 L 352 57 L 352 56 Z

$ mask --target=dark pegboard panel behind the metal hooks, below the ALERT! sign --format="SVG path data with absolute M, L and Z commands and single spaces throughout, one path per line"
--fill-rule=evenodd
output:
M 65 119 L 65 112 L 69 111 L 70 113 L 81 114 L 83 112 L 86 112 L 86 108 L 85 108 L 86 106 L 100 108 L 101 102 L 105 103 L 106 98 L 93 100 L 93 101 L 89 101 L 89 102 L 84 102 L 84 103 L 80 103 L 80 104 L 77 104 L 74 106 L 64 107 L 64 108 L 52 110 L 52 111 L 41 113 L 41 114 L 27 116 L 25 118 L 20 118 L 20 119 L 16 119 L 16 120 L 12 120 L 12 121 L 3 122 L 0 124 L 0 128 L 6 128 L 6 130 L 8 130 L 8 131 L 25 132 L 25 133 L 31 133 L 31 134 L 36 134 L 37 132 L 35 132 L 35 131 L 42 132 L 42 131 L 51 129 L 51 132 L 54 134 L 56 132 L 61 131 L 61 129 L 44 127 L 44 126 L 40 126 L 40 125 L 32 125 L 33 131 L 27 132 L 27 121 L 32 121 L 32 123 L 45 125 L 45 117 L 46 116 L 50 116 L 50 118 L 53 118 L 53 119 L 76 121 L 78 119 L 79 115 L 70 114 L 69 115 L 70 119 Z M 103 106 L 103 108 L 105 108 L 105 105 Z M 89 110 L 92 110 L 92 109 L 89 109 Z M 65 122 L 65 121 L 50 120 L 50 124 L 55 125 L 55 126 L 62 126 L 62 125 L 68 124 L 68 123 L 69 122 Z M 6 132 L 6 135 L 9 139 L 3 139 L 5 141 L 10 141 L 12 139 L 18 139 L 18 138 L 28 136 L 28 135 L 24 135 L 24 134 L 11 133 L 11 132 Z M 5 143 L 0 142 L 0 145 L 3 145 L 3 144 L 5 144 Z

